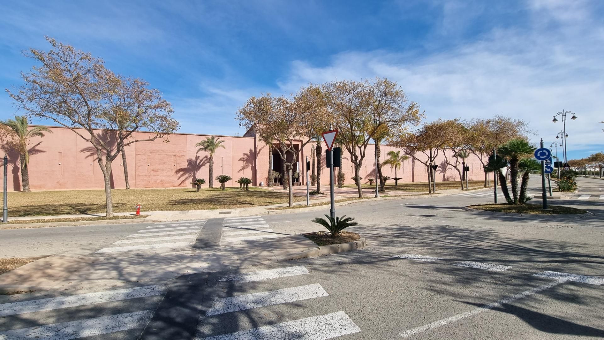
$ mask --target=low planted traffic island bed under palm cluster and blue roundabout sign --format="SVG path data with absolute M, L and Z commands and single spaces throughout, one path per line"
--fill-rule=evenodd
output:
M 594 215 L 591 212 L 567 206 L 548 206 L 548 209 L 542 209 L 540 204 L 478 204 L 466 206 L 463 209 L 465 211 L 478 212 L 482 214 L 508 216 L 516 215 L 524 217 L 538 217 L 542 215 L 587 217 Z

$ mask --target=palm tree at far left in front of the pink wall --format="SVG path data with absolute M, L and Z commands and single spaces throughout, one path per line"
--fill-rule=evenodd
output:
M 14 116 L 14 120 L 0 120 L 0 124 L 7 126 L 14 131 L 16 140 L 14 140 L 16 148 L 19 151 L 19 160 L 21 162 L 21 191 L 31 192 L 30 190 L 30 172 L 28 165 L 30 164 L 30 153 L 27 145 L 31 137 L 44 137 L 44 132 L 53 133 L 50 129 L 43 126 L 36 126 L 28 129 L 27 117 Z

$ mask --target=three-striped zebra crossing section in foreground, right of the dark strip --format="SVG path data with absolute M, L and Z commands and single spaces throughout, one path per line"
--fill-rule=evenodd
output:
M 260 327 L 246 327 L 240 322 L 225 322 L 226 319 L 247 319 L 254 310 L 259 313 L 258 315 L 266 316 L 270 313 L 271 306 L 284 305 L 280 308 L 287 309 L 298 306 L 301 301 L 315 301 L 316 299 L 317 302 L 321 302 L 322 298 L 329 296 L 329 292 L 321 284 L 306 282 L 307 284 L 293 287 L 291 287 L 291 283 L 288 284 L 287 278 L 306 277 L 309 274 L 306 267 L 294 266 L 239 273 L 219 278 L 217 280 L 219 283 L 236 283 L 239 290 L 253 290 L 255 285 L 250 283 L 262 281 L 266 285 L 270 284 L 271 280 L 277 281 L 278 286 L 287 287 L 214 298 L 210 309 L 199 322 L 195 340 L 327 340 L 361 332 L 358 325 L 343 310 L 260 325 Z M 311 278 L 309 281 L 312 282 L 312 276 L 309 278 Z M 307 280 L 299 278 L 294 282 L 300 284 L 301 281 Z M 221 325 L 222 328 L 216 330 L 210 325 Z M 254 322 L 253 325 L 257 324 Z M 216 333 L 221 334 L 216 335 Z

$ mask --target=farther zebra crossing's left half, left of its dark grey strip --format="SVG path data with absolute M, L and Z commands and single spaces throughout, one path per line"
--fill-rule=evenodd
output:
M 207 220 L 160 222 L 138 230 L 95 253 L 118 253 L 146 249 L 173 249 L 191 246 Z

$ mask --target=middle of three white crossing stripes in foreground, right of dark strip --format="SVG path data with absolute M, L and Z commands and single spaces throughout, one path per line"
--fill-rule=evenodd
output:
M 321 296 L 329 296 L 329 294 L 327 294 L 323 287 L 318 283 L 270 290 L 269 292 L 230 296 L 214 301 L 214 304 L 205 315 L 211 316 L 222 313 L 231 313 L 237 312 L 238 310 L 272 306 L 275 304 L 319 298 Z

